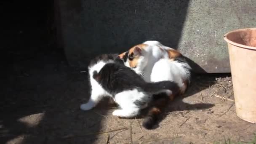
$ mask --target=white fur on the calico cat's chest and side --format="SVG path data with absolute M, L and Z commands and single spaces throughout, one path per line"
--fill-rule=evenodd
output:
M 190 72 L 184 69 L 184 65 L 189 67 L 188 64 L 180 63 L 178 61 L 171 61 L 166 51 L 169 48 L 158 41 L 146 41 L 144 44 L 148 48 L 142 50 L 142 58 L 139 58 L 136 68 L 132 68 L 137 74 L 141 74 L 147 82 L 159 82 L 163 80 L 171 80 L 176 82 L 180 89 L 184 89 L 184 80 L 189 80 Z M 129 67 L 128 62 L 125 66 Z M 190 69 L 190 67 L 189 67 Z M 185 91 L 185 90 L 182 90 Z

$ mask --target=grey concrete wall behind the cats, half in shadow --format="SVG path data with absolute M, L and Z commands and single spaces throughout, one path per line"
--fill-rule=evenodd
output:
M 59 0 L 56 8 L 69 64 L 81 67 L 158 40 L 178 48 L 195 72 L 230 72 L 223 35 L 256 22 L 253 0 Z

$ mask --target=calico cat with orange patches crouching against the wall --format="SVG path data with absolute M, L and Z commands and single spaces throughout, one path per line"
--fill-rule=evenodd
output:
M 155 107 L 149 111 L 149 121 L 144 125 L 153 125 L 150 119 L 156 119 L 163 108 L 172 101 L 175 96 L 184 94 L 190 83 L 191 67 L 185 57 L 173 48 L 169 48 L 158 41 L 146 41 L 135 45 L 128 51 L 121 53 L 119 58 L 125 66 L 133 69 L 137 74 L 144 77 L 147 82 L 159 82 L 170 80 L 178 84 L 179 92 L 174 94 L 161 93 L 162 99 L 155 101 Z M 160 97 L 160 96 L 158 96 Z

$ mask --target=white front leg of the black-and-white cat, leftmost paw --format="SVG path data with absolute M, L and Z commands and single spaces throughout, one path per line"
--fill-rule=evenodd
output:
M 103 98 L 103 96 L 104 96 L 104 93 L 99 93 L 97 91 L 92 91 L 89 101 L 85 104 L 81 104 L 80 109 L 82 109 L 82 110 L 92 109 L 93 107 L 96 106 L 96 104 L 99 103 L 99 101 Z

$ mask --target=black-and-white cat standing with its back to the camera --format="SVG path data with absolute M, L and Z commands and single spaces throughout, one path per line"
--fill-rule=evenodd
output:
M 152 100 L 158 99 L 157 93 L 175 94 L 178 91 L 178 85 L 172 81 L 145 82 L 131 68 L 125 67 L 118 56 L 116 58 L 113 55 L 101 55 L 89 65 L 91 98 L 80 106 L 82 110 L 92 109 L 102 96 L 109 96 L 121 108 L 115 110 L 112 115 L 131 118 L 139 115 L 140 110 L 147 107 Z M 144 119 L 152 121 L 152 124 L 156 120 L 147 117 Z M 153 125 L 143 126 L 149 129 Z

